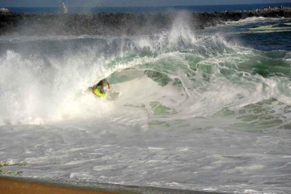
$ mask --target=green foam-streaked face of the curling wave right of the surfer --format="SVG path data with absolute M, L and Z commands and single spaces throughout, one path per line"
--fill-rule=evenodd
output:
M 212 91 L 209 88 L 213 88 L 213 92 L 217 95 L 215 98 L 225 97 L 229 101 L 224 102 L 223 99 L 216 101 L 220 107 L 218 106 L 216 112 L 213 113 L 210 108 L 212 105 L 204 104 L 204 109 L 209 110 L 208 113 L 203 111 L 204 114 L 206 112 L 206 117 L 234 119 L 237 123 L 231 124 L 233 129 L 263 131 L 288 126 L 289 117 L 284 115 L 289 113 L 289 101 L 284 103 L 275 97 L 279 96 L 281 99 L 290 97 L 291 93 L 288 89 L 290 87 L 290 70 L 290 58 L 287 51 L 253 50 L 249 52 L 246 50 L 244 54 L 228 53 L 211 57 L 176 52 L 157 57 L 150 63 L 115 72 L 110 75 L 109 81 L 122 85 L 123 82 L 136 81 L 146 76 L 161 87 L 173 88 L 173 91 L 177 89 L 179 95 L 186 96 L 183 101 L 185 104 L 187 102 L 199 104 L 203 100 L 203 104 L 212 103 L 211 98 L 215 95 L 211 94 Z M 234 90 L 236 90 L 235 95 L 228 94 Z M 209 94 L 210 97 L 207 97 Z M 145 96 L 147 97 L 146 93 Z M 249 101 L 253 101 L 253 97 L 258 101 L 254 100 L 254 103 L 249 103 Z M 245 103 L 246 105 L 243 105 Z M 213 106 L 215 105 L 213 104 Z M 164 106 L 161 101 L 151 101 L 148 104 L 126 104 L 125 106 L 143 109 L 147 113 L 152 112 L 153 117 L 172 117 L 172 115 L 185 112 L 188 108 L 179 107 L 178 110 L 174 102 L 170 106 Z M 237 108 L 240 106 L 242 107 Z M 192 115 L 196 110 L 190 112 L 192 113 L 189 115 Z M 201 115 L 198 113 L 198 116 Z M 181 122 L 183 123 L 183 121 Z M 150 124 L 169 125 L 165 120 L 157 118 Z M 185 121 L 184 124 L 187 125 L 187 122 Z

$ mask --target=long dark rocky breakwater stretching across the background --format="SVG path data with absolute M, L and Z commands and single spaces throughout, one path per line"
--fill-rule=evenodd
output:
M 193 29 L 215 26 L 247 17 L 291 17 L 290 7 L 222 13 L 100 13 L 16 14 L 0 13 L 0 35 L 145 35 L 168 30 L 177 17 Z M 179 20 L 178 20 L 179 22 Z

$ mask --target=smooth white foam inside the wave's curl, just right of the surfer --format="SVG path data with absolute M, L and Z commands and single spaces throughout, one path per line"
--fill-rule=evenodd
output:
M 115 112 L 109 119 L 119 120 L 121 125 L 129 125 L 129 127 L 140 124 L 146 129 L 148 121 L 159 116 L 152 110 L 151 103 L 181 112 L 183 107 L 180 105 L 186 100 L 185 96 L 181 96 L 181 89 L 170 84 L 160 86 L 146 76 L 115 84 L 114 88 L 120 91 L 120 95 L 116 101 L 112 102 Z M 182 118 L 181 114 L 163 115 L 163 117 L 165 120 Z

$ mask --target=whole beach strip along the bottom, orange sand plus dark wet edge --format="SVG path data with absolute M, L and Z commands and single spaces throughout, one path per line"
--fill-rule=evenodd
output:
M 109 183 L 73 184 L 23 177 L 0 176 L 0 194 L 226 194 Z

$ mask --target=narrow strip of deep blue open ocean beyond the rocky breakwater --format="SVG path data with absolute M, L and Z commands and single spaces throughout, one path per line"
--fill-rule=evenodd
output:
M 265 3 L 241 5 L 197 5 L 197 6 L 157 6 L 157 7 L 68 7 L 69 13 L 164 13 L 176 11 L 189 12 L 223 12 L 223 11 L 248 11 L 273 6 L 291 6 L 291 3 Z M 57 7 L 9 7 L 16 13 L 58 13 Z

